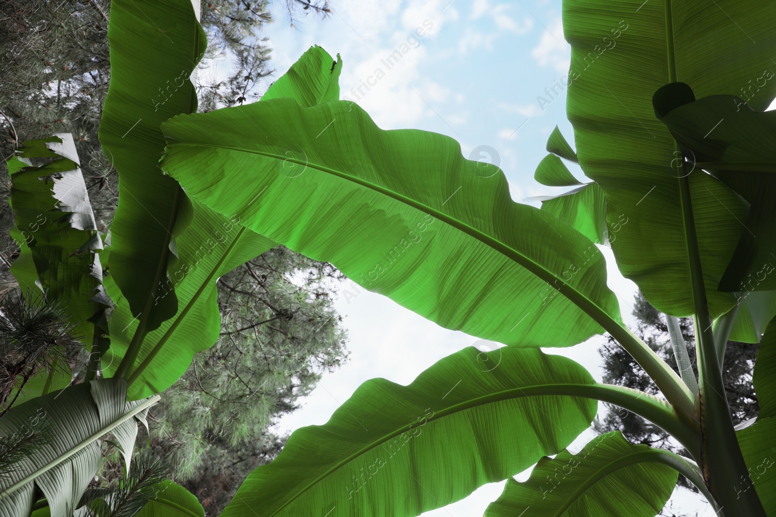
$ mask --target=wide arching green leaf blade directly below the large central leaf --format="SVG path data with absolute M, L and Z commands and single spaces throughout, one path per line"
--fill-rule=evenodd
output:
M 297 429 L 222 515 L 412 517 L 448 505 L 587 428 L 597 403 L 542 395 L 559 384 L 594 381 L 566 357 L 515 347 L 468 347 L 408 386 L 372 379 L 324 426 Z

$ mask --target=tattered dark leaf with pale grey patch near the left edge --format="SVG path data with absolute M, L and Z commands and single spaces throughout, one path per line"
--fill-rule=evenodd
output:
M 19 259 L 11 271 L 23 294 L 61 303 L 74 327 L 74 337 L 99 353 L 109 346 L 103 336 L 108 298 L 102 287 L 99 235 L 78 153 L 69 133 L 29 140 L 9 162 L 12 188 L 9 202 L 15 225 L 11 235 L 19 245 Z M 48 159 L 33 166 L 29 160 Z M 32 267 L 30 267 L 32 266 Z M 69 367 L 40 371 L 25 386 L 17 403 L 41 395 L 45 377 L 51 389 L 70 382 Z

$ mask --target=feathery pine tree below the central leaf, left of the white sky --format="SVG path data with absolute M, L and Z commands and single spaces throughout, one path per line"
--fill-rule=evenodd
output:
M 331 264 L 284 247 L 220 278 L 221 338 L 149 416 L 152 447 L 209 515 L 285 445 L 287 436 L 269 428 L 345 360 L 332 300 L 341 278 Z

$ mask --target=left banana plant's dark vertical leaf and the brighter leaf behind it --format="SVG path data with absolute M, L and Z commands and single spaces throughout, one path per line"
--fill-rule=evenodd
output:
M 218 277 L 277 244 L 190 198 L 158 167 L 161 122 L 196 111 L 189 74 L 206 43 L 191 2 L 113 2 L 108 37 L 111 83 L 99 134 L 120 183 L 106 278 L 116 307 L 103 365 L 130 381 L 130 398 L 144 398 L 171 386 L 218 339 Z M 338 98 L 342 63 L 332 63 L 311 48 L 262 100 Z

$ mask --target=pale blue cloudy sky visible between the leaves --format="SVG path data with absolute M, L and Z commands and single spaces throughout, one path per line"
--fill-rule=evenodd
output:
M 276 71 L 265 88 L 318 44 L 333 57 L 339 53 L 344 62 L 341 98 L 357 102 L 379 127 L 424 129 L 455 138 L 464 156 L 501 167 L 516 202 L 539 206 L 526 198 L 564 190 L 533 180 L 556 125 L 573 146 L 566 93 L 558 86 L 570 64 L 561 0 L 332 0 L 332 7 L 327 19 L 300 16 L 290 27 L 279 14 L 265 27 Z M 281 11 L 275 4 L 275 12 Z M 400 59 L 389 60 L 396 50 Z M 580 169 L 568 165 L 584 181 Z M 602 250 L 608 261 L 608 284 L 618 295 L 625 322 L 632 325 L 636 285 L 618 273 L 611 252 Z M 324 424 L 370 378 L 409 384 L 442 357 L 482 344 L 348 284 L 342 286 L 336 307 L 345 316 L 350 360 L 338 371 L 324 374 L 301 401 L 302 408 L 279 422 L 280 432 Z M 546 352 L 577 360 L 600 380 L 598 346 L 604 340 L 596 336 L 569 349 Z M 577 452 L 593 437 L 587 431 L 570 449 Z M 528 474 L 518 475 L 518 481 Z M 482 515 L 503 485 L 486 485 L 424 517 Z M 674 500 L 674 511 L 714 515 L 697 495 L 681 491 Z

